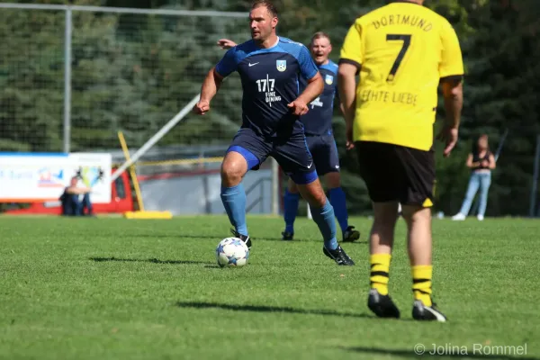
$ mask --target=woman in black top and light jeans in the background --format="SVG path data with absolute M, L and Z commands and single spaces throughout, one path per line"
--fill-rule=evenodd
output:
M 482 134 L 477 143 L 473 145 L 473 151 L 467 157 L 467 166 L 472 170 L 469 186 L 461 210 L 452 219 L 465 220 L 473 204 L 474 195 L 480 188 L 480 207 L 477 218 L 483 220 L 488 205 L 491 170 L 495 168 L 495 157 L 488 145 L 488 135 Z

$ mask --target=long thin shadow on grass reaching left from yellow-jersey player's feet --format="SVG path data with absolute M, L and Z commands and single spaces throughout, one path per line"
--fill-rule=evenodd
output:
M 176 302 L 176 306 L 180 308 L 192 309 L 222 309 L 230 311 L 252 311 L 252 312 L 282 312 L 290 314 L 306 314 L 306 315 L 329 315 L 339 316 L 344 318 L 365 318 L 374 319 L 368 314 L 356 314 L 352 312 L 341 312 L 332 310 L 317 310 L 317 309 L 294 309 L 282 306 L 267 306 L 267 305 L 233 305 L 218 302 Z M 392 320 L 391 320 L 392 321 Z

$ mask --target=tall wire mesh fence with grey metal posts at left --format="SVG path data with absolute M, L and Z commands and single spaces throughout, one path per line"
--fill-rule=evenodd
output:
M 138 148 L 198 94 L 245 40 L 247 14 L 0 4 L 0 151 Z M 241 86 L 230 76 L 210 116 L 188 115 L 158 146 L 229 142 Z

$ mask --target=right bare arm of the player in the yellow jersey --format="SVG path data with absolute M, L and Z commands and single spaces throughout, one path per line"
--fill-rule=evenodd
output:
M 442 88 L 445 97 L 446 123 L 438 138 L 445 141 L 446 148 L 443 154 L 448 157 L 457 143 L 461 112 L 464 105 L 464 88 L 461 78 L 444 80 Z

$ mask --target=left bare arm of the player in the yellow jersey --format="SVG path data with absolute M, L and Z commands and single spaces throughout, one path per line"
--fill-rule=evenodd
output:
M 341 111 L 347 125 L 347 149 L 354 148 L 353 121 L 355 120 L 356 72 L 354 64 L 343 62 L 338 69 L 338 91 Z

